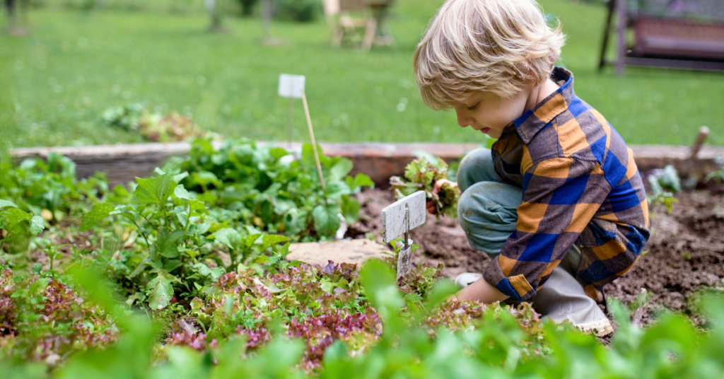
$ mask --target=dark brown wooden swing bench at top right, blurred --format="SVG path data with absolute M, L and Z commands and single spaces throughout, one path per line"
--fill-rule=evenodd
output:
M 626 65 L 724 70 L 724 18 L 721 16 L 724 1 L 670 1 L 668 7 L 659 7 L 657 12 L 648 12 L 649 2 L 653 1 L 609 1 L 599 70 L 607 64 L 615 65 L 618 75 L 623 74 Z M 681 12 L 681 9 L 688 12 Z M 609 62 L 605 53 L 614 14 L 618 17 L 618 49 L 615 61 Z M 626 41 L 627 28 L 633 30 L 632 45 Z

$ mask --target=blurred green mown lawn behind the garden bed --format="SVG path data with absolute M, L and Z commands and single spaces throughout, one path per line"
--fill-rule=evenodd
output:
M 261 22 L 227 19 L 228 33 L 206 33 L 204 14 L 34 9 L 25 37 L 0 35 L 0 130 L 14 146 L 140 142 L 103 125 L 108 107 L 146 101 L 162 112 L 193 114 L 225 136 L 284 140 L 287 99 L 279 73 L 306 75 L 318 141 L 478 142 L 454 112 L 433 112 L 418 95 L 412 54 L 442 0 L 398 0 L 397 46 L 369 53 L 329 46 L 324 20 L 274 22 L 284 46 L 261 46 Z M 629 68 L 597 72 L 605 8 L 544 0 L 563 22 L 561 63 L 576 93 L 599 109 L 628 143 L 689 144 L 701 125 L 724 145 L 724 74 Z M 4 26 L 4 25 L 2 25 Z M 403 105 L 400 105 L 403 104 Z M 301 102 L 295 139 L 307 140 Z

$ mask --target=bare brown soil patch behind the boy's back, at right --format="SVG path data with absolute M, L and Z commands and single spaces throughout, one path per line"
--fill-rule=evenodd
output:
M 652 296 L 638 321 L 646 324 L 662 308 L 704 319 L 692 301 L 698 290 L 724 289 L 724 202 L 721 195 L 695 191 L 677 195 L 671 215 L 652 209 L 652 238 L 645 254 L 622 278 L 606 286 L 607 296 L 633 300 L 641 289 Z

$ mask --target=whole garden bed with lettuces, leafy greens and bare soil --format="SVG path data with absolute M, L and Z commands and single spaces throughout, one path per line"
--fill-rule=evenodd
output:
M 641 330 L 626 309 L 608 304 L 618 325 L 605 341 L 610 349 L 571 328 L 542 323 L 527 303 L 440 304 L 458 288 L 438 278 L 484 270 L 489 260 L 470 249 L 457 222 L 446 217 L 429 217 L 413 230 L 422 249 L 416 267 L 400 278 L 394 257 L 361 268 L 288 262 L 287 242 L 342 250 L 325 242 L 340 230 L 340 214 L 348 236 L 379 238 L 382 208 L 394 201 L 390 191 L 361 191 L 371 179 L 348 176 L 353 162 L 342 157 L 319 157 L 323 188 L 312 150 L 303 146 L 300 159 L 289 161 L 285 149 L 248 141 L 214 149 L 211 141 L 197 140 L 188 158 L 115 188 L 103 175 L 75 180 L 75 164 L 57 154 L 3 167 L 0 372 L 9 367 L 9 378 L 83 378 L 80 372 L 91 366 L 119 367 L 119 375 L 130 376 L 203 365 L 214 377 L 277 370 L 278 378 L 322 372 L 325 378 L 369 378 L 384 370 L 463 378 L 452 370 L 476 367 L 471 372 L 504 369 L 518 378 L 595 359 L 590 367 L 613 377 L 618 357 L 635 365 L 632 372 L 663 370 L 671 362 L 650 362 L 671 354 L 681 357 L 676 363 L 686 372 L 720 359 L 709 346 L 724 341 L 716 328 L 724 325 L 724 312 L 714 312 L 724 309 L 724 299 L 703 303 L 712 321 L 707 333 L 677 315 L 657 317 L 655 326 Z M 427 172 L 423 165 L 411 167 Z M 441 167 L 435 169 L 445 175 Z M 662 171 L 672 173 L 670 167 Z M 716 287 L 724 274 L 718 265 L 720 197 L 712 193 L 718 192 L 683 194 L 673 216 L 654 209 L 659 231 L 651 249 L 614 293 L 636 310 L 636 324 L 651 322 L 663 306 L 703 323 L 682 299 Z M 672 199 L 660 195 L 654 204 Z M 455 209 L 445 199 L 442 213 Z M 374 246 L 362 239 L 345 243 Z M 319 258 L 322 250 L 311 254 Z M 330 259 L 347 259 L 337 258 Z M 641 286 L 653 294 L 646 307 L 638 305 Z M 180 362 L 189 364 L 182 369 Z M 32 365 L 38 375 L 14 374 Z

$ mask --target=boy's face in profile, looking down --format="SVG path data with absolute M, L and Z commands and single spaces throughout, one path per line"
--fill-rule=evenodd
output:
M 492 92 L 476 92 L 453 108 L 458 114 L 460 127 L 470 126 L 492 138 L 500 138 L 503 128 L 526 112 L 530 96 L 529 91 L 522 91 L 511 99 Z

